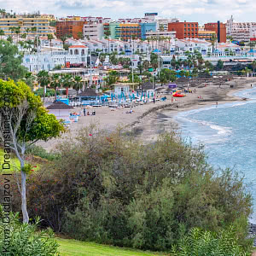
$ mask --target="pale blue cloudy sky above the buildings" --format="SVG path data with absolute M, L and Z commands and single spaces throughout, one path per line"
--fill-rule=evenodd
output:
M 255 21 L 255 0 L 0 0 L 0 9 L 16 13 L 40 11 L 61 18 L 67 15 L 139 18 L 157 12 L 164 18 L 198 21 L 200 25 L 233 15 L 235 21 Z

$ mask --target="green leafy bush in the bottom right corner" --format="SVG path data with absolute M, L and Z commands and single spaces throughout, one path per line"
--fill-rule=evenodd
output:
M 218 233 L 192 229 L 184 236 L 177 246 L 172 247 L 172 256 L 250 256 L 249 248 L 244 249 L 239 244 L 233 227 Z

